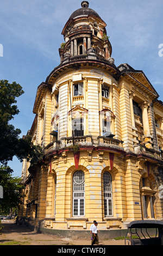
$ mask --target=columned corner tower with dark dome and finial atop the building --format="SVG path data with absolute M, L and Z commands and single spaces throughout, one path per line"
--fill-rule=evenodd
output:
M 111 44 L 106 35 L 105 22 L 89 8 L 87 1 L 82 2 L 82 8 L 74 11 L 68 19 L 62 35 L 65 43 L 59 49 L 61 63 L 80 59 L 106 59 L 111 57 Z

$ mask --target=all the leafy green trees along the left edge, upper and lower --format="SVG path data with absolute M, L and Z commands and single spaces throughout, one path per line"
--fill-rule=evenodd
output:
M 23 93 L 20 84 L 0 80 L 0 185 L 3 187 L 0 214 L 8 214 L 11 208 L 17 208 L 23 198 L 21 178 L 11 176 L 13 170 L 7 166 L 8 161 L 17 156 L 20 161 L 27 159 L 33 166 L 43 158 L 42 148 L 33 145 L 32 137 L 20 138 L 21 130 L 9 123 L 19 113 L 16 97 Z

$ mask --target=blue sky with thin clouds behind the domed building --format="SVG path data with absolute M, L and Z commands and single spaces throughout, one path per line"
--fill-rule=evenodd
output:
M 73 11 L 82 0 L 1 0 L 0 80 L 21 84 L 17 98 L 20 113 L 11 124 L 22 137 L 32 126 L 37 87 L 60 64 L 61 35 Z M 162 0 L 89 0 L 106 23 L 115 65 L 128 63 L 142 70 L 163 101 Z M 160 48 L 159 48 L 160 47 Z M 21 176 L 22 163 L 16 157 L 8 165 L 12 175 Z

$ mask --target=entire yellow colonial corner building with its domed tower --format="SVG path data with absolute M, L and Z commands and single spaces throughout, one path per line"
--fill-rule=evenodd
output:
M 106 23 L 87 1 L 62 30 L 60 64 L 37 88 L 20 215 L 45 229 L 123 229 L 162 219 L 163 104 L 141 70 L 116 66 Z

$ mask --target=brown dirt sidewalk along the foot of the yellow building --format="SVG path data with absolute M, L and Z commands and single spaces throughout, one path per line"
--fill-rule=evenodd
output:
M 4 228 L 0 231 L 0 245 L 91 245 L 90 240 L 70 239 L 66 237 L 58 237 L 55 235 L 39 234 L 31 231 L 24 225 L 15 225 L 13 220 L 2 220 Z M 124 240 L 103 240 L 99 236 L 99 246 L 102 245 L 124 245 Z

